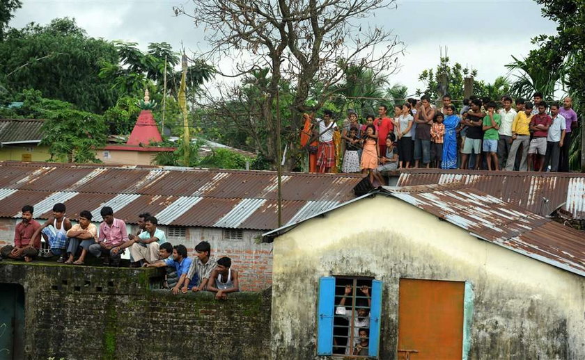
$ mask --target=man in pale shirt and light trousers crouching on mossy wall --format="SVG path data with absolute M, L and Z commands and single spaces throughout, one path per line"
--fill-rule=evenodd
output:
M 144 220 L 144 231 L 139 236 L 129 237 L 132 243 L 130 254 L 134 261 L 130 268 L 139 268 L 141 261 L 154 263 L 159 260 L 159 246 L 166 243 L 166 235 L 157 225 L 157 218 L 150 216 Z

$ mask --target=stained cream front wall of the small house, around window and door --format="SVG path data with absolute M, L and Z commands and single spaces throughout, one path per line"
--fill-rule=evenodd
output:
M 585 359 L 585 279 L 378 195 L 274 240 L 272 354 L 314 359 L 318 279 L 384 281 L 380 358 L 396 359 L 401 277 L 469 281 L 470 359 Z M 414 358 L 413 358 L 414 359 Z

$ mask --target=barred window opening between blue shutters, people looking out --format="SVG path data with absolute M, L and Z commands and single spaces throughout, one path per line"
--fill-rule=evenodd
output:
M 333 354 L 352 358 L 368 357 L 370 326 L 361 324 L 364 324 L 365 318 L 370 316 L 368 300 L 371 300 L 372 295 L 372 278 L 335 277 L 335 280 Z M 348 286 L 351 288 L 351 293 L 346 296 L 345 289 Z M 362 288 L 368 289 L 368 296 L 361 291 Z M 344 298 L 345 303 L 341 305 Z M 359 309 L 366 309 L 367 316 L 359 317 Z M 360 336 L 362 329 L 366 329 L 365 336 Z

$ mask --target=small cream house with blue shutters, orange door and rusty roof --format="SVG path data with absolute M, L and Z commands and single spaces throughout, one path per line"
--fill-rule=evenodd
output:
M 384 188 L 263 241 L 274 359 L 585 359 L 585 233 L 481 190 Z

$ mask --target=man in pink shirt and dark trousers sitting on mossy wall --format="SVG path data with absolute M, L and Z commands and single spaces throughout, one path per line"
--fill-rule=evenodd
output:
M 126 223 L 114 218 L 114 210 L 104 206 L 100 211 L 104 221 L 100 224 L 98 243 L 89 246 L 89 252 L 95 257 L 104 256 L 104 265 L 120 266 L 124 249 L 132 245 L 128 240 Z

